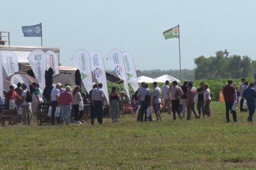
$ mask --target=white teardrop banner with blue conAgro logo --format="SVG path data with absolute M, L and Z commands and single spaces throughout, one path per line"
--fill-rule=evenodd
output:
M 43 50 L 33 50 L 28 57 L 29 64 L 35 75 L 35 79 L 39 83 L 40 89 L 44 91 L 45 88 L 45 70 L 46 68 L 46 56 Z

